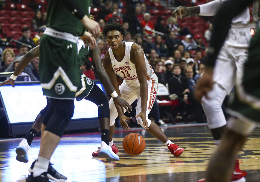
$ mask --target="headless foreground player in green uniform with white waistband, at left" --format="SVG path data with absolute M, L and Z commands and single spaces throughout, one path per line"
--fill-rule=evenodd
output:
M 40 40 L 40 81 L 43 94 L 50 100 L 44 120 L 48 121 L 41 147 L 27 182 L 46 182 L 50 157 L 74 112 L 77 78 L 77 40 L 86 28 L 98 36 L 100 27 L 88 18 L 90 0 L 50 0 L 47 28 Z M 94 37 L 89 41 L 95 44 Z M 96 45 L 96 44 L 95 44 Z M 15 79 L 15 75 L 10 78 Z M 43 120 L 43 122 L 44 122 Z M 109 130 L 107 130 L 109 134 Z

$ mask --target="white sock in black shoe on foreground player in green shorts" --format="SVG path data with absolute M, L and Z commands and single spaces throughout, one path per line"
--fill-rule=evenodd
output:
M 42 173 L 47 172 L 50 160 L 38 156 L 33 167 L 33 177 L 40 176 Z

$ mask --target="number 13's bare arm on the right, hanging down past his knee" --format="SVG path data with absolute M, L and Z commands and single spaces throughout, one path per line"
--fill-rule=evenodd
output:
M 146 121 L 146 107 L 148 99 L 147 69 L 145 64 L 144 51 L 139 45 L 132 45 L 130 52 L 130 60 L 133 64 L 135 64 L 137 74 L 136 76 L 140 83 L 141 112 L 138 116 L 135 117 L 141 117 L 144 127 L 148 129 L 148 124 Z

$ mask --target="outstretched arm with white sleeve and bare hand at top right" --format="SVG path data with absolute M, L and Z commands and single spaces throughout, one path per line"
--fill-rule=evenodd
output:
M 214 16 L 220 6 L 221 0 L 214 0 L 206 4 L 188 8 L 179 6 L 173 11 L 172 16 L 176 18 L 180 17 L 180 19 L 189 15 Z

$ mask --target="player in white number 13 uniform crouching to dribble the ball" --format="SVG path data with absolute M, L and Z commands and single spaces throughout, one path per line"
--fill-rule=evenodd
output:
M 125 33 L 126 30 L 123 26 L 115 22 L 106 24 L 102 32 L 103 35 L 106 35 L 110 46 L 103 58 L 103 66 L 115 88 L 115 94 L 118 94 L 129 104 L 138 99 L 135 116 L 137 122 L 151 135 L 165 143 L 172 155 L 179 157 L 184 149 L 172 143 L 158 125 L 151 122 L 147 117 L 156 97 L 158 79 L 147 61 L 142 48 L 133 42 L 122 41 L 123 34 Z M 114 71 L 123 78 L 123 83 L 119 87 Z M 119 116 L 120 124 L 125 130 L 128 130 L 125 119 L 130 118 L 123 115 L 126 110 L 122 111 L 121 108 L 115 107 L 112 99 L 109 101 L 109 109 L 109 145 L 114 146 L 113 133 L 115 131 L 115 118 Z M 96 152 L 93 152 L 92 156 L 96 156 Z

